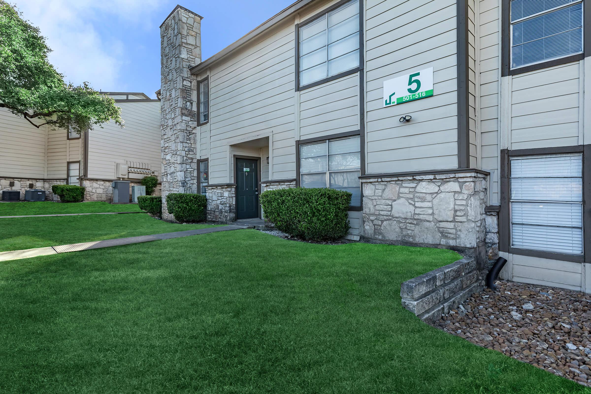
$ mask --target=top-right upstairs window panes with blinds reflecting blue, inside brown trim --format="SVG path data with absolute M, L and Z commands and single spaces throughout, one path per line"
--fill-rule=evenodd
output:
M 511 68 L 583 53 L 583 0 L 511 0 Z

